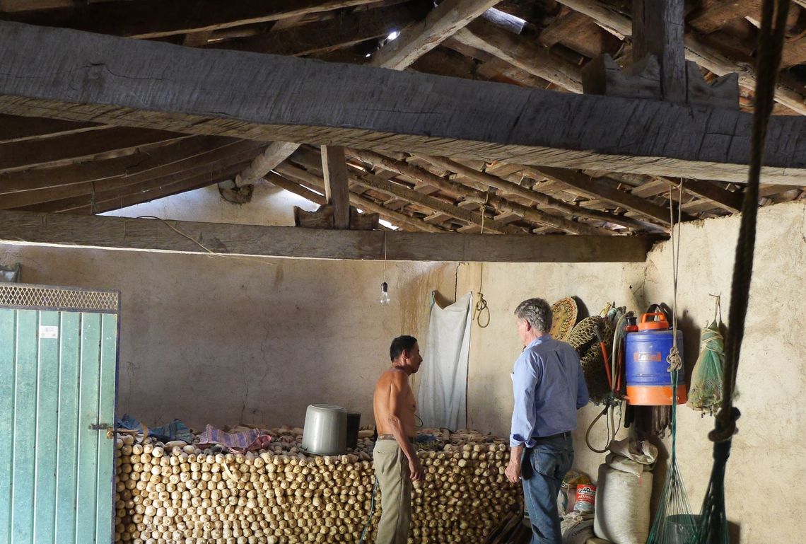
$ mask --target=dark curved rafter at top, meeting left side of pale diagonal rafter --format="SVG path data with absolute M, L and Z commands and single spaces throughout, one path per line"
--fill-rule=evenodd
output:
M 289 56 L 330 52 L 401 31 L 425 17 L 427 12 L 424 3 L 407 2 L 280 31 L 272 29 L 246 39 L 214 42 L 208 47 Z

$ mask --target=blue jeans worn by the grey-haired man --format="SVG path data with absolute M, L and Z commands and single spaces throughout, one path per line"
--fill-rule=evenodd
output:
M 524 450 L 521 461 L 523 496 L 532 525 L 530 544 L 562 544 L 557 494 L 574 463 L 574 442 L 570 433 L 537 440 L 534 447 Z

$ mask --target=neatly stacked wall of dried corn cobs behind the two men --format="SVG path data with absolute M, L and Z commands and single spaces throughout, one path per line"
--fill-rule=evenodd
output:
M 359 542 L 372 508 L 375 442 L 362 431 L 345 455 L 305 455 L 302 430 L 269 430 L 261 451 L 205 451 L 131 434 L 116 440 L 115 542 L 295 544 Z M 432 434 L 418 451 L 409 543 L 483 542 L 522 503 L 509 484 L 504 440 L 472 431 Z M 364 542 L 375 542 L 380 491 Z

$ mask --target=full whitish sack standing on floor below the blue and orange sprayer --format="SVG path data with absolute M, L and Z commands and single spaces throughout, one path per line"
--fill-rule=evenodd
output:
M 658 448 L 629 438 L 610 444 L 599 466 L 596 536 L 613 544 L 645 544 L 650 533 L 652 468 Z

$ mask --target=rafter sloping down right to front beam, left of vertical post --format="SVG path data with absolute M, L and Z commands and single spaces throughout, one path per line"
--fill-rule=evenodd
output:
M 521 70 L 559 85 L 573 93 L 582 92 L 579 66 L 555 56 L 542 45 L 496 27 L 485 19 L 477 19 L 456 32 L 454 39 L 472 48 L 481 49 Z

